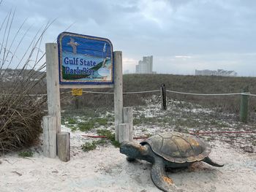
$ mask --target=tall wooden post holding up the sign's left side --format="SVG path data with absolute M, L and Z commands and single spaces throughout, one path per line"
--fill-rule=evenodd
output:
M 58 45 L 45 44 L 48 115 L 56 116 L 56 133 L 61 131 L 61 102 L 59 93 Z

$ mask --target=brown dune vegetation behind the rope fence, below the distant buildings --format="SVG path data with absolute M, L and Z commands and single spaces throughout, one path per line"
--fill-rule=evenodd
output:
M 167 90 L 188 93 L 238 93 L 249 86 L 249 92 L 256 93 L 255 77 L 214 77 L 173 74 L 125 74 L 124 92 L 159 90 L 162 83 Z M 113 92 L 113 89 L 94 91 Z M 138 106 L 145 104 L 144 99 L 160 92 L 124 94 L 124 106 Z M 189 101 L 204 107 L 216 107 L 219 112 L 233 112 L 238 114 L 240 95 L 236 96 L 190 96 L 167 92 L 167 98 L 179 101 Z M 84 93 L 78 99 L 80 107 L 113 107 L 113 94 Z M 249 110 L 256 110 L 256 97 L 249 99 Z

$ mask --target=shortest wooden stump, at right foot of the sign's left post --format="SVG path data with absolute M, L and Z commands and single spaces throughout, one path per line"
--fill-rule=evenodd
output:
M 59 132 L 57 134 L 58 156 L 61 161 L 70 160 L 70 134 L 69 132 Z

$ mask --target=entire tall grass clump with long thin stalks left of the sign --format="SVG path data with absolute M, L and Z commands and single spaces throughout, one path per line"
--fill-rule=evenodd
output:
M 31 27 L 25 29 L 24 20 L 13 31 L 14 19 L 15 11 L 11 10 L 0 20 L 0 155 L 37 141 L 46 101 L 45 97 L 37 96 L 35 88 L 45 79 L 45 53 L 39 47 L 51 23 L 40 28 L 26 44 L 24 39 Z M 18 55 L 20 51 L 22 55 Z M 7 79 L 10 72 L 16 72 L 15 76 Z M 36 96 L 29 95 L 31 90 Z

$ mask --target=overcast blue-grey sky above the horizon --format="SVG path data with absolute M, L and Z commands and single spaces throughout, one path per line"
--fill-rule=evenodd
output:
M 135 72 L 143 55 L 153 55 L 157 73 L 225 69 L 256 76 L 255 0 L 4 0 L 0 22 L 11 9 L 12 31 L 27 19 L 28 39 L 54 19 L 43 43 L 70 25 L 67 31 L 110 39 L 123 52 L 124 71 Z

